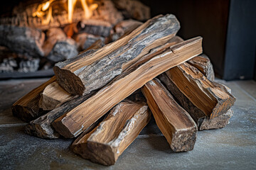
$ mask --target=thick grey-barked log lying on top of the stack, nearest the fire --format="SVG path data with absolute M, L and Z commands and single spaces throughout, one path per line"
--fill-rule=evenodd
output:
M 105 45 L 97 52 L 79 60 L 55 64 L 58 84 L 70 94 L 84 95 L 99 89 L 121 74 L 143 55 L 164 45 L 180 28 L 175 16 L 157 16 L 132 31 L 129 35 Z M 97 57 L 95 63 L 88 58 Z

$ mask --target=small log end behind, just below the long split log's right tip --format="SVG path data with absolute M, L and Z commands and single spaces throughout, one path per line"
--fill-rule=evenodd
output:
M 188 60 L 188 63 L 193 67 L 196 67 L 203 75 L 207 77 L 208 80 L 214 81 L 214 71 L 213 64 L 210 63 L 210 59 L 207 55 L 198 55 L 193 57 L 193 59 Z

